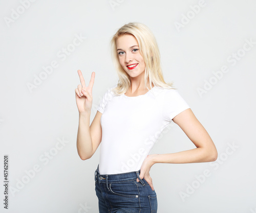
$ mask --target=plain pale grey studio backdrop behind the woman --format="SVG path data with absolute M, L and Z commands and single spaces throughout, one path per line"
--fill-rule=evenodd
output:
M 92 122 L 103 94 L 118 80 L 110 39 L 131 21 L 154 33 L 165 81 L 174 82 L 219 154 L 211 163 L 153 165 L 158 212 L 256 212 L 255 1 L 0 4 L 1 212 L 98 212 L 100 147 L 86 161 L 76 150 L 77 70 L 86 85 L 96 74 Z M 151 154 L 194 148 L 170 123 Z

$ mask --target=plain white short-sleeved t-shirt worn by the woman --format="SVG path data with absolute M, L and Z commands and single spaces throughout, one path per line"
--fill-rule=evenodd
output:
M 105 92 L 97 110 L 100 123 L 99 174 L 138 171 L 156 140 L 172 119 L 190 108 L 177 89 L 154 86 L 136 97 Z

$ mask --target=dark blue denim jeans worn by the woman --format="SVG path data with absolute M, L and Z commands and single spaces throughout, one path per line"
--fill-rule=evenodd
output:
M 98 165 L 99 168 L 99 165 Z M 157 194 L 143 178 L 140 170 L 113 175 L 95 171 L 95 191 L 99 213 L 156 213 Z M 140 182 L 137 182 L 136 179 Z

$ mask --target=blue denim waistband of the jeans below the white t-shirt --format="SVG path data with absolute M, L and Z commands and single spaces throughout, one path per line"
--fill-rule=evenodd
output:
M 95 182 L 103 182 L 103 183 L 114 183 L 114 182 L 123 182 L 129 180 L 136 180 L 137 178 L 141 182 L 142 185 L 145 185 L 144 181 L 139 177 L 140 170 L 134 172 L 126 172 L 121 174 L 112 174 L 112 175 L 100 175 L 99 174 L 99 164 L 95 171 Z

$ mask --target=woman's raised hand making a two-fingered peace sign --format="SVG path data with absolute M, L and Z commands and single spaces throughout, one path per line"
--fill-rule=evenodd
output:
M 77 72 L 81 82 L 81 84 L 79 84 L 75 89 L 76 105 L 77 105 L 78 111 L 79 113 L 91 112 L 92 103 L 93 103 L 92 90 L 93 90 L 95 73 L 94 72 L 92 73 L 89 85 L 86 86 L 86 82 L 83 79 L 81 70 L 78 69 Z

